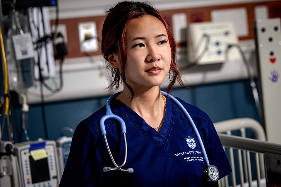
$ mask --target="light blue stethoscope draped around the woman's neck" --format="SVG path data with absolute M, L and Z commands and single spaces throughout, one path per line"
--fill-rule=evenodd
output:
M 187 119 L 189 120 L 190 124 L 191 124 L 191 127 L 193 128 L 193 131 L 195 132 L 196 134 L 196 137 L 198 139 L 198 142 L 199 142 L 199 146 L 201 148 L 201 151 L 202 151 L 202 154 L 203 154 L 203 157 L 204 157 L 204 160 L 206 162 L 206 165 L 207 167 L 205 168 L 204 170 L 204 176 L 206 177 L 206 179 L 208 181 L 217 181 L 219 179 L 219 171 L 217 169 L 217 167 L 215 167 L 214 165 L 210 165 L 209 163 L 209 159 L 208 159 L 208 156 L 207 156 L 207 153 L 206 153 L 206 150 L 205 150 L 205 147 L 203 145 L 203 142 L 202 142 L 202 139 L 201 139 L 201 136 L 198 132 L 198 129 L 196 128 L 192 118 L 190 117 L 189 113 L 187 112 L 187 110 L 184 108 L 184 106 L 176 99 L 174 98 L 173 96 L 171 96 L 170 94 L 164 92 L 164 91 L 160 91 L 164 96 L 167 96 L 168 98 L 170 98 L 181 110 L 182 112 L 184 112 L 184 115 L 187 117 Z M 121 92 L 119 93 L 115 93 L 113 94 L 112 96 L 110 96 L 105 104 L 106 106 L 106 114 L 100 119 L 100 129 L 102 131 L 102 135 L 104 136 L 104 140 L 105 140 L 105 144 L 107 146 L 107 150 L 109 152 L 109 155 L 110 155 L 110 158 L 113 162 L 113 164 L 115 165 L 115 167 L 103 167 L 102 171 L 104 172 L 109 172 L 111 170 L 120 170 L 120 171 L 124 171 L 124 172 L 128 172 L 128 173 L 133 173 L 133 168 L 128 168 L 128 169 L 122 169 L 122 167 L 125 165 L 126 163 L 126 160 L 127 160 L 127 140 L 126 140 L 126 125 L 125 125 L 125 122 L 124 120 L 122 120 L 121 117 L 115 115 L 112 113 L 111 109 L 110 109 L 110 102 L 113 98 L 115 98 L 118 94 L 120 94 Z M 110 151 L 110 148 L 109 148 L 109 145 L 108 145 L 108 142 L 107 142 L 107 138 L 106 138 L 106 131 L 105 131 L 105 126 L 104 126 L 104 122 L 106 120 L 109 120 L 109 119 L 114 119 L 116 121 L 118 121 L 121 125 L 121 131 L 122 131 L 122 134 L 124 136 L 124 143 L 125 143 L 125 158 L 124 158 L 124 162 L 118 166 L 112 156 L 112 153 Z

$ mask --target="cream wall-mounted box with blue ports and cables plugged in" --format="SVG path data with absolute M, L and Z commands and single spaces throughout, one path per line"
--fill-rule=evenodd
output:
M 229 44 L 238 44 L 232 22 L 190 23 L 187 34 L 189 63 L 211 64 L 241 59 L 237 49 L 230 48 L 227 51 Z

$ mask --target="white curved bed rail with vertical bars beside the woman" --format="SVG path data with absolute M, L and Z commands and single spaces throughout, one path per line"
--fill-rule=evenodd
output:
M 265 143 L 266 137 L 261 124 L 252 118 L 236 118 L 216 122 L 214 125 L 232 167 L 232 173 L 220 180 L 219 186 L 252 187 L 253 179 L 256 179 L 258 187 L 265 186 L 261 186 L 261 181 L 265 183 L 265 151 L 263 151 L 264 148 L 260 145 Z M 246 131 L 251 132 L 254 137 L 246 137 L 246 134 L 249 134 L 246 133 Z M 255 141 L 256 144 L 251 144 L 250 142 L 252 140 Z M 270 143 L 266 142 L 265 146 L 270 146 Z M 257 150 L 254 150 L 254 148 L 257 148 Z M 256 170 L 256 172 L 254 170 Z M 229 183 L 232 185 L 229 185 Z M 256 184 L 254 184 L 254 186 L 256 186 Z

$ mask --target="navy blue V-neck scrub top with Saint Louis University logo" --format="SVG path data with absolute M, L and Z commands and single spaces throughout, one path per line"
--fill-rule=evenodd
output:
M 220 139 L 208 115 L 197 107 L 177 98 L 189 112 L 205 146 L 211 165 L 219 177 L 232 170 Z M 166 115 L 160 132 L 150 127 L 136 112 L 113 99 L 114 114 L 126 123 L 128 157 L 124 169 L 103 172 L 103 167 L 115 167 L 108 154 L 99 127 L 105 106 L 86 118 L 75 129 L 70 153 L 60 186 L 208 186 L 203 176 L 205 161 L 196 134 L 183 112 L 167 98 Z M 107 140 L 117 165 L 124 161 L 124 138 L 119 123 L 105 121 Z

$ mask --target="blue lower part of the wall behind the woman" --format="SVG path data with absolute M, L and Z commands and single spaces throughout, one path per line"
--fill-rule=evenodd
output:
M 2 95 L 3 81 L 1 81 L 0 86 Z M 173 90 L 171 94 L 196 105 L 205 111 L 213 122 L 238 117 L 251 117 L 259 121 L 248 80 L 198 85 L 193 86 L 191 89 L 178 88 Z M 44 111 L 46 119 L 48 139 L 56 140 L 59 138 L 62 128 L 70 127 L 75 129 L 81 120 L 102 107 L 107 98 L 108 96 L 45 103 L 44 106 L 40 104 L 30 105 L 28 128 L 30 140 L 45 138 L 42 111 Z M 15 99 L 11 98 L 11 100 Z M 21 132 L 21 106 L 13 104 L 11 111 L 14 141 L 15 143 L 25 141 L 25 137 Z M 2 122 L 3 116 L 0 119 Z M 4 140 L 8 140 L 6 129 L 7 126 L 5 125 Z M 72 133 L 65 131 L 65 135 L 72 136 Z

